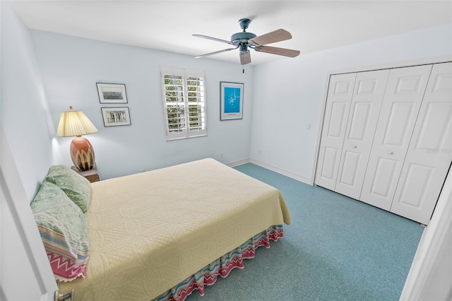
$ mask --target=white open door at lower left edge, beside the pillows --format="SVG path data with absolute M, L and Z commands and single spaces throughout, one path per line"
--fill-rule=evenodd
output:
M 11 152 L 11 148 L 1 124 L 0 141 L 0 196 L 4 196 L 4 198 L 1 199 L 1 207 L 3 209 L 1 215 L 11 213 L 13 220 L 11 223 L 6 224 L 2 222 L 0 225 L 1 227 L 6 228 L 16 228 L 15 233 L 18 233 L 19 236 L 9 240 L 10 242 L 14 242 L 14 246 L 4 246 L 2 244 L 1 247 L 10 248 L 18 247 L 18 245 L 23 247 L 27 258 L 21 262 L 23 262 L 24 265 L 30 264 L 30 266 L 27 266 L 27 271 L 31 275 L 30 278 L 33 278 L 32 281 L 35 281 L 35 283 L 23 283 L 23 276 L 21 276 L 21 273 L 15 273 L 15 271 L 18 268 L 22 268 L 22 266 L 6 266 L 6 268 L 2 266 L 1 276 L 8 275 L 8 284 L 4 282 L 4 279 L 0 282 L 0 299 L 6 297 L 12 297 L 14 299 L 14 292 L 28 289 L 26 295 L 32 297 L 33 300 L 36 300 L 35 298 L 39 295 L 40 301 L 52 301 L 54 300 L 55 291 L 58 290 L 57 281 L 55 281 L 52 268 L 49 265 L 49 259 L 47 259 L 47 254 L 44 245 L 42 244 L 35 218 L 32 215 L 28 197 L 25 194 L 25 189 L 20 179 L 13 153 Z M 6 220 L 6 216 L 2 217 L 4 218 L 1 218 L 1 220 Z M 11 218 L 8 218 L 8 220 L 11 220 Z M 6 230 L 1 229 L 1 231 Z M 10 269 L 13 269 L 13 271 Z M 13 285 L 11 286 L 11 284 Z

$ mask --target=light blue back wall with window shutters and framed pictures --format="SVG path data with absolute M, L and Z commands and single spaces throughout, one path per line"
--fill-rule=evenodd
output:
M 99 129 L 86 138 L 101 179 L 207 157 L 223 163 L 249 159 L 254 72 L 250 67 L 242 73 L 238 57 L 232 64 L 42 31 L 31 35 L 54 126 L 73 106 Z M 208 136 L 166 141 L 160 66 L 205 71 Z M 220 122 L 220 81 L 244 83 L 243 119 Z M 103 125 L 100 108 L 113 105 L 100 104 L 97 82 L 126 84 L 131 126 Z M 71 138 L 57 140 L 61 163 L 72 165 Z

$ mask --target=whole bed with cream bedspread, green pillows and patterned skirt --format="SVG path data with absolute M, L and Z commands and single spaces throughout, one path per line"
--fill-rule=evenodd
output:
M 57 167 L 60 174 L 70 170 Z M 73 180 L 87 181 L 67 173 L 71 179 L 59 181 L 51 168 L 40 191 L 62 187 L 73 199 Z M 58 223 L 77 221 L 61 229 L 77 230 L 78 219 L 86 223 L 80 240 L 73 235 L 76 242 L 52 228 L 49 211 L 57 209 L 44 204 L 49 194 L 38 197 L 40 191 L 32 202 L 38 229 L 60 292 L 74 289 L 75 300 L 184 300 L 194 290 L 203 295 L 204 285 L 242 268 L 243 259 L 283 237 L 283 223 L 291 222 L 278 189 L 210 158 L 89 184 L 72 200 L 80 212 L 71 207 L 55 214 Z M 76 218 L 66 217 L 71 211 Z

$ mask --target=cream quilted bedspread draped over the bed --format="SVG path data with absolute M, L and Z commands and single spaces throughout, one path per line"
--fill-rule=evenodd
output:
M 76 300 L 151 300 L 271 225 L 278 189 L 213 159 L 92 184 L 86 278 Z

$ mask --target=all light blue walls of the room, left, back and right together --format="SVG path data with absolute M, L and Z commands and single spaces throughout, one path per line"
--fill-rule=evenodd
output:
M 30 33 L 1 3 L 1 122 L 30 196 L 49 165 L 71 165 L 71 138 L 55 137 L 59 114 L 70 105 L 99 129 L 88 138 L 103 179 L 212 157 L 223 163 L 251 158 L 309 182 L 328 72 L 452 55 L 452 25 L 444 25 L 282 59 L 243 74 L 239 64 Z M 165 141 L 160 66 L 206 71 L 207 137 Z M 244 119 L 220 122 L 220 81 L 245 83 Z M 103 126 L 100 107 L 107 105 L 98 101 L 96 82 L 126 84 L 131 126 Z

